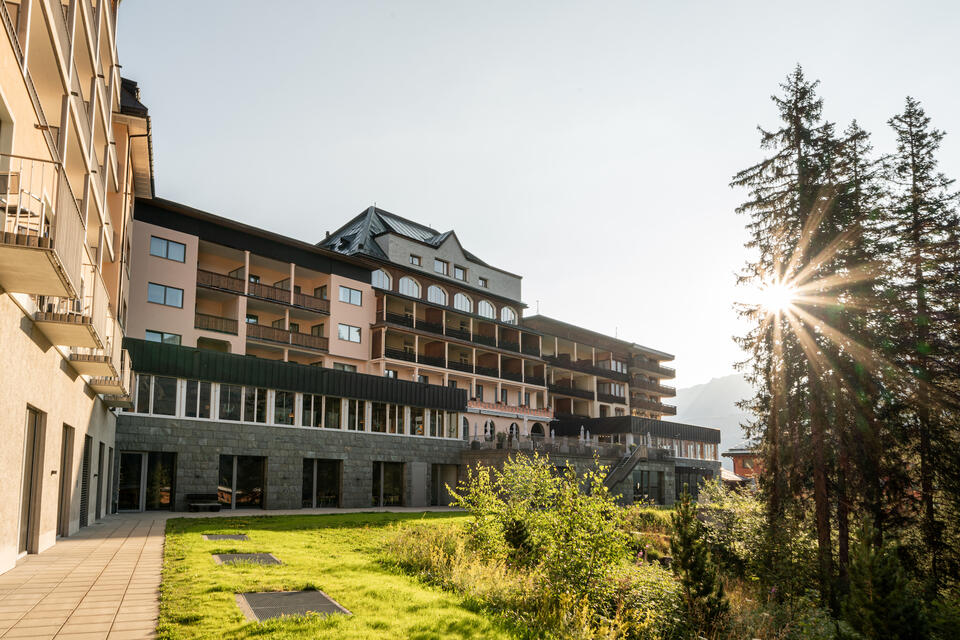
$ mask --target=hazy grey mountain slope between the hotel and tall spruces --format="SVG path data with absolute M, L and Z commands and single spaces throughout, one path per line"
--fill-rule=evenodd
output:
M 748 416 L 736 403 L 753 395 L 743 376 L 732 374 L 714 378 L 706 384 L 677 389 L 677 422 L 720 429 L 720 451 L 735 447 L 744 440 L 740 423 Z M 732 468 L 729 458 L 721 458 L 723 466 Z

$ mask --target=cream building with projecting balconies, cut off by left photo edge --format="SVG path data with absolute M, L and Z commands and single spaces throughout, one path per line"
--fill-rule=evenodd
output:
M 0 3 L 0 572 L 110 511 L 150 120 L 117 2 Z

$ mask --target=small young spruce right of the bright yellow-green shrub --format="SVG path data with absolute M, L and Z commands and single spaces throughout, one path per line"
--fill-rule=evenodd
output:
M 697 519 L 697 506 L 685 484 L 680 501 L 671 515 L 671 569 L 680 579 L 683 600 L 698 634 L 715 637 L 726 624 L 730 605 L 723 583 L 710 558 L 703 524 Z

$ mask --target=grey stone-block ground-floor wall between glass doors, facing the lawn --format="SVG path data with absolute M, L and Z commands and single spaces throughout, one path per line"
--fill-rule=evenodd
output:
M 121 414 L 118 451 L 177 454 L 175 507 L 189 493 L 215 493 L 220 455 L 267 458 L 266 509 L 299 509 L 303 459 L 343 461 L 341 506 L 369 507 L 373 462 L 402 462 L 405 504 L 430 504 L 433 464 L 460 464 L 460 440 Z

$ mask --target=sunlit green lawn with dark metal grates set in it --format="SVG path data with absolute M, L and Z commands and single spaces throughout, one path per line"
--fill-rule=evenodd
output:
M 516 638 L 456 594 L 380 562 L 394 523 L 429 526 L 461 514 L 357 513 L 322 516 L 178 518 L 167 522 L 158 636 L 182 638 Z M 206 541 L 246 533 L 249 541 Z M 217 565 L 214 553 L 272 553 L 283 564 Z M 353 613 L 248 622 L 234 594 L 320 589 Z

